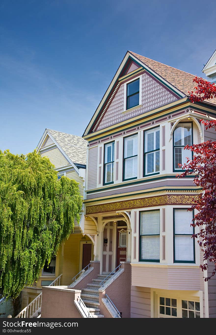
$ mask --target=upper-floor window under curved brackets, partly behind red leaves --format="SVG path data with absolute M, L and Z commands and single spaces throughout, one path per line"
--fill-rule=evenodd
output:
M 192 159 L 192 152 L 184 150 L 185 145 L 192 144 L 192 123 L 178 123 L 173 133 L 174 170 L 181 170 L 178 164 L 187 163 Z

